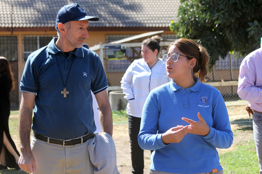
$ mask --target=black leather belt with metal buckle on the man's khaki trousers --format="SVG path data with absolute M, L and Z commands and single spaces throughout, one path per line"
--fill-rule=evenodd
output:
M 48 137 L 45 137 L 43 135 L 39 135 L 36 132 L 33 132 L 33 136 L 36 137 L 36 139 L 39 139 L 41 141 L 47 142 Z M 83 136 L 83 143 L 87 142 L 88 139 L 91 139 L 95 136 L 94 133 L 90 133 L 88 135 Z M 68 140 L 59 140 L 59 139 L 53 139 L 53 138 L 49 138 L 49 143 L 53 143 L 53 144 L 60 144 L 63 145 L 64 147 L 66 146 L 74 146 L 76 144 L 80 144 L 81 143 L 81 138 L 77 138 L 77 139 L 68 139 Z

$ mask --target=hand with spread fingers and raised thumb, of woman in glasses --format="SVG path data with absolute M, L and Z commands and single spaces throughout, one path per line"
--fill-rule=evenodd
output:
M 182 118 L 184 121 L 188 122 L 192 129 L 189 131 L 189 133 L 192 134 L 197 134 L 197 135 L 202 135 L 206 136 L 210 132 L 210 127 L 206 124 L 206 121 L 203 119 L 203 117 L 200 115 L 200 113 L 197 113 L 197 117 L 199 118 L 198 122 L 195 122 L 191 119 L 187 118 Z

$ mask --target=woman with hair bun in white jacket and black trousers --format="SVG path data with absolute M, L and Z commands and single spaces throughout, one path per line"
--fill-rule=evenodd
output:
M 160 37 L 145 39 L 141 46 L 143 59 L 134 60 L 126 70 L 121 88 L 128 100 L 128 129 L 131 143 L 132 173 L 143 174 L 144 150 L 138 144 L 141 115 L 146 97 L 154 88 L 169 82 L 165 64 L 157 57 Z

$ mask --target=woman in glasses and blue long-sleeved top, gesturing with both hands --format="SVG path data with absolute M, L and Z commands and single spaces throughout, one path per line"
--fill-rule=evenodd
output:
M 172 80 L 148 95 L 138 136 L 151 154 L 150 173 L 217 173 L 223 169 L 216 148 L 233 142 L 220 92 L 205 82 L 209 55 L 189 39 L 178 39 L 162 56 Z

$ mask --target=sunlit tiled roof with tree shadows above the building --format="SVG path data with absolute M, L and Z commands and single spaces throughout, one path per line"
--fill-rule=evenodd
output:
M 168 27 L 176 21 L 179 0 L 76 0 L 88 15 L 90 27 Z M 0 27 L 54 27 L 60 8 L 70 0 L 1 0 Z M 168 7 L 168 8 L 167 8 Z

